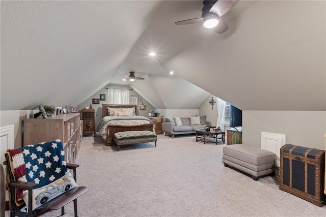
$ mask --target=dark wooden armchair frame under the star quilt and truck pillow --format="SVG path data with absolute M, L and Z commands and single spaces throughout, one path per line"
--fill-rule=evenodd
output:
M 61 141 L 60 141 L 61 143 Z M 61 143 L 62 145 L 62 143 Z M 18 149 L 12 149 L 18 150 Z M 20 149 L 21 150 L 21 149 Z M 32 198 L 33 198 L 33 188 L 35 189 L 37 183 L 34 182 L 26 182 L 19 181 L 15 176 L 14 165 L 11 158 L 10 150 L 5 153 L 6 161 L 4 165 L 6 165 L 6 179 L 7 179 L 7 189 L 9 191 L 9 204 L 10 204 L 10 216 L 23 216 L 23 217 L 32 217 L 38 216 L 42 213 L 57 210 L 61 208 L 61 215 L 65 213 L 64 206 L 71 201 L 74 203 L 74 216 L 77 217 L 77 198 L 83 194 L 85 194 L 88 189 L 87 187 L 76 187 L 73 189 L 66 188 L 65 192 L 60 196 L 55 197 L 52 200 L 47 201 L 47 199 L 43 200 L 43 204 L 36 209 L 32 208 Z M 32 165 L 33 166 L 33 165 Z M 73 171 L 73 178 L 76 181 L 76 168 L 79 165 L 77 164 L 66 164 L 67 169 L 71 169 Z M 25 165 L 23 166 L 25 168 Z M 56 169 L 56 168 L 53 168 Z M 27 175 L 27 174 L 26 174 Z M 28 207 L 25 202 L 20 199 L 17 200 L 16 194 L 17 190 L 28 190 Z M 25 208 L 24 208 L 25 207 Z

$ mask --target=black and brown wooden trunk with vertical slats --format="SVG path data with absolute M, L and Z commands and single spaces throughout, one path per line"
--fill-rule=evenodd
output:
M 280 190 L 323 206 L 324 160 L 324 150 L 282 146 Z

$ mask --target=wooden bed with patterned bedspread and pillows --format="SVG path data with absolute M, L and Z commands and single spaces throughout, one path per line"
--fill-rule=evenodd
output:
M 111 145 L 117 132 L 145 130 L 154 132 L 154 123 L 137 115 L 137 105 L 102 104 L 100 133 L 107 145 Z

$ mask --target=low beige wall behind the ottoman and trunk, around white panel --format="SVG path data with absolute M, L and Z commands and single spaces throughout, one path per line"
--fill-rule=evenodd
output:
M 260 147 L 261 132 L 286 135 L 286 143 L 325 149 L 325 111 L 242 111 L 242 143 Z

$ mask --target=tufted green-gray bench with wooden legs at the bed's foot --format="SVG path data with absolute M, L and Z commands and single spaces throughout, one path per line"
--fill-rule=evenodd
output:
M 118 145 L 118 151 L 120 145 L 130 145 L 143 142 L 157 142 L 157 135 L 151 131 L 124 131 L 115 133 L 113 140 Z

